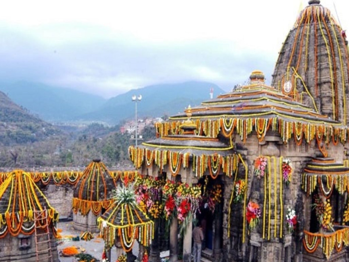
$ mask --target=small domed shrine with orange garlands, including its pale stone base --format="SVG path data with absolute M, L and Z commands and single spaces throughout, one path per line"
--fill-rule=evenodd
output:
M 100 159 L 94 159 L 84 170 L 73 193 L 73 227 L 98 232 L 97 217 L 113 203 L 116 182 Z

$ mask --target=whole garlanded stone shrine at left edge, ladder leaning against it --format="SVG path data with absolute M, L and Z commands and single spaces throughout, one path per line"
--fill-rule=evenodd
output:
M 0 261 L 59 262 L 57 220 L 29 173 L 9 173 L 0 185 Z

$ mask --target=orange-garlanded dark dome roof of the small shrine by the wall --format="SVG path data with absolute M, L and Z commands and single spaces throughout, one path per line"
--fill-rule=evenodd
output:
M 96 216 L 112 204 L 111 192 L 116 188 L 113 177 L 99 159 L 94 159 L 77 182 L 73 195 L 73 211 L 85 216 L 91 210 Z

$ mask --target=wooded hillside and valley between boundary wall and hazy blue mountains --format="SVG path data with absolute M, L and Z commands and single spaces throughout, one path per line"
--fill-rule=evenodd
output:
M 146 140 L 155 138 L 154 126 L 146 126 L 143 133 Z M 133 143 L 119 126 L 93 123 L 62 131 L 0 92 L 0 168 L 83 168 L 100 158 L 110 168 L 132 169 L 127 150 Z

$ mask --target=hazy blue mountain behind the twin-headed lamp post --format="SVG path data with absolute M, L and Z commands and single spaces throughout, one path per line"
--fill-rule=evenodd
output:
M 135 102 L 132 102 L 132 95 L 142 95 L 142 100 L 137 102 L 139 117 L 173 115 L 183 112 L 188 105 L 194 106 L 200 104 L 203 100 L 208 100 L 210 88 L 214 88 L 214 97 L 217 94 L 226 93 L 213 83 L 195 81 L 151 85 L 133 89 L 109 99 L 100 109 L 81 115 L 76 120 L 98 120 L 116 124 L 123 119 L 134 118 Z

